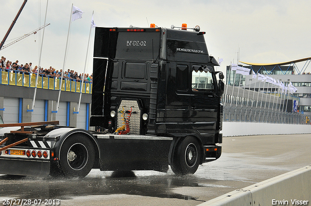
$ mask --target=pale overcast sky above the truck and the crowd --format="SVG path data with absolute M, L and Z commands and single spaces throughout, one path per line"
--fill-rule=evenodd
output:
M 0 0 L 2 40 L 24 0 Z M 71 16 L 71 4 L 84 14 L 71 24 L 65 69 L 83 72 L 90 20 L 100 27 L 188 27 L 205 31 L 210 55 L 226 65 L 240 61 L 278 63 L 311 57 L 310 0 L 49 0 L 41 65 L 62 69 Z M 28 0 L 5 43 L 43 25 L 47 0 Z M 41 9 L 40 9 L 41 8 Z M 42 35 L 43 30 L 41 30 Z M 42 38 L 42 37 L 41 37 Z M 0 51 L 7 60 L 39 62 L 40 33 Z M 94 29 L 91 32 L 86 73 L 92 73 Z M 297 64 L 302 69 L 304 63 Z M 311 65 L 306 70 L 311 71 Z

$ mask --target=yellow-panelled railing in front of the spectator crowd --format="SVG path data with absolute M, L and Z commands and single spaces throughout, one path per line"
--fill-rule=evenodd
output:
M 35 88 L 36 77 L 37 75 L 33 73 L 25 74 L 24 72 L 19 73 L 19 71 L 13 70 L 11 72 L 0 70 L 0 84 Z M 60 78 L 56 79 L 52 76 L 42 77 L 39 75 L 37 88 L 59 90 L 61 87 L 61 91 L 80 93 L 82 82 L 63 78 L 62 85 L 60 85 L 60 81 Z M 82 93 L 92 94 L 91 82 L 83 82 Z

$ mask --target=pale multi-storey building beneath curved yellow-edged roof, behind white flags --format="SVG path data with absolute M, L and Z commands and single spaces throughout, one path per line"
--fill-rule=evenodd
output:
M 296 67 L 296 62 L 307 61 L 307 64 L 310 63 L 311 58 L 305 58 L 301 60 L 295 60 L 292 62 L 286 63 L 277 63 L 277 64 L 249 64 L 243 66 L 250 68 L 250 74 L 252 70 L 258 74 L 268 75 L 276 80 L 282 81 L 285 85 L 292 82 L 294 87 L 297 88 L 297 91 L 292 96 L 298 97 L 298 110 L 300 113 L 306 115 L 311 115 L 311 74 L 299 71 Z M 309 63 L 308 63 L 309 62 Z M 287 64 L 287 65 L 286 65 Z M 230 72 L 230 74 L 229 74 Z M 263 83 L 259 84 L 257 79 L 252 79 L 252 76 L 242 76 L 240 74 L 235 74 L 235 71 L 230 70 L 230 66 L 226 67 L 226 83 L 230 86 L 239 86 L 244 87 L 245 89 L 255 90 L 262 93 L 278 93 L 277 87 L 270 84 L 267 89 L 267 84 L 264 87 Z

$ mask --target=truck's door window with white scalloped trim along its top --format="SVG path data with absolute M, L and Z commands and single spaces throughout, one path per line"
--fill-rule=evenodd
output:
M 192 91 L 213 91 L 213 77 L 208 67 L 192 66 Z

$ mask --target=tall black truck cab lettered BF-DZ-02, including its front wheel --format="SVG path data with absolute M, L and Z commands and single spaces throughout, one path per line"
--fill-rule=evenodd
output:
M 219 64 L 204 34 L 96 27 L 90 126 L 172 140 L 167 152 L 175 173 L 194 173 L 199 163 L 219 158 L 223 74 L 217 82 Z

